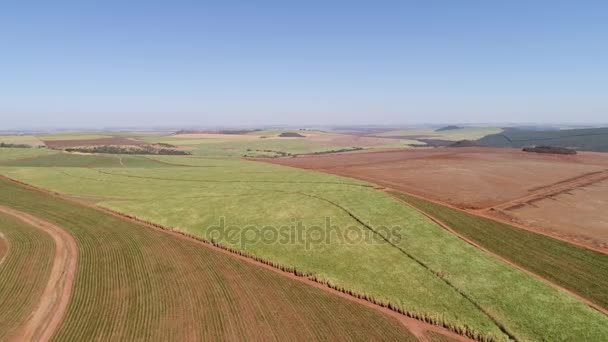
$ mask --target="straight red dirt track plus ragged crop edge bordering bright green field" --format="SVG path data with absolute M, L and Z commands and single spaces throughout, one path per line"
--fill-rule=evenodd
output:
M 453 326 L 447 322 L 437 322 L 429 317 L 426 317 L 426 316 L 423 316 L 423 315 L 420 315 L 420 314 L 417 314 L 414 312 L 409 312 L 405 309 L 397 307 L 394 304 L 389 303 L 388 301 L 378 300 L 367 294 L 357 293 L 357 292 L 349 290 L 347 288 L 336 286 L 329 281 L 325 281 L 323 279 L 317 278 L 317 276 L 312 273 L 302 272 L 292 266 L 285 266 L 285 265 L 282 265 L 282 264 L 279 264 L 279 263 L 276 263 L 273 261 L 269 261 L 269 260 L 263 259 L 261 257 L 258 257 L 256 255 L 240 251 L 236 248 L 231 248 L 231 247 L 221 245 L 220 243 L 218 243 L 216 241 L 209 241 L 209 240 L 194 236 L 192 234 L 176 230 L 174 228 L 161 226 L 161 225 L 155 224 L 153 222 L 139 219 L 135 216 L 123 214 L 123 213 L 120 213 L 120 212 L 117 212 L 117 211 L 114 211 L 111 209 L 107 209 L 107 208 L 99 207 L 99 206 L 89 204 L 86 202 L 82 202 L 77 199 L 71 198 L 68 195 L 64 195 L 64 194 L 61 194 L 61 193 L 58 193 L 58 192 L 55 192 L 52 190 L 43 189 L 43 188 L 31 185 L 31 184 L 27 184 L 25 182 L 21 182 L 21 181 L 6 177 L 4 175 L 0 175 L 0 179 L 3 179 L 5 181 L 17 184 L 19 186 L 22 186 L 22 187 L 25 187 L 28 189 L 32 189 L 34 191 L 38 191 L 38 192 L 41 192 L 41 193 L 44 193 L 44 194 L 47 194 L 47 195 L 50 195 L 53 197 L 57 197 L 57 198 L 66 200 L 71 203 L 75 203 L 77 205 L 81 205 L 81 206 L 84 206 L 87 208 L 101 211 L 103 213 L 112 215 L 116 218 L 128 220 L 128 221 L 134 222 L 136 224 L 143 225 L 147 228 L 161 231 L 161 232 L 164 232 L 166 234 L 169 234 L 169 235 L 181 238 L 181 239 L 187 239 L 187 240 L 196 242 L 201 246 L 211 248 L 215 251 L 235 257 L 239 260 L 243 260 L 245 262 L 263 267 L 265 269 L 271 270 L 273 272 L 276 272 L 276 273 L 286 276 L 288 278 L 314 286 L 318 289 L 321 289 L 330 294 L 339 296 L 341 298 L 365 305 L 366 307 L 369 307 L 380 313 L 389 315 L 390 317 L 397 319 L 402 325 L 404 325 L 410 332 L 412 332 L 417 338 L 421 339 L 422 341 L 429 340 L 427 338 L 427 336 L 424 334 L 425 331 L 436 332 L 438 334 L 444 335 L 446 337 L 450 337 L 457 341 L 492 341 L 492 339 L 488 339 L 487 337 L 484 337 L 484 336 L 479 336 L 474 331 L 470 331 L 466 328 Z

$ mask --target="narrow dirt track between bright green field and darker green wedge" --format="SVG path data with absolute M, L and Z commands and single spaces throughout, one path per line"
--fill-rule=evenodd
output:
M 413 196 L 411 194 L 407 194 L 407 195 L 408 196 Z M 443 229 L 445 229 L 448 232 L 454 234 L 459 239 L 463 240 L 464 242 L 468 243 L 469 245 L 471 245 L 471 246 L 473 246 L 473 247 L 475 247 L 475 248 L 483 251 L 484 253 L 487 253 L 487 254 L 491 255 L 492 257 L 494 257 L 494 258 L 496 258 L 496 259 L 504 262 L 505 264 L 507 264 L 507 265 L 509 265 L 511 267 L 514 267 L 514 268 L 516 268 L 516 269 L 518 269 L 518 270 L 520 270 L 520 271 L 522 271 L 524 273 L 527 273 L 527 274 L 535 277 L 536 279 L 538 279 L 538 280 L 540 280 L 540 281 L 542 281 L 542 282 L 544 282 L 544 283 L 546 283 L 546 284 L 548 284 L 548 285 L 550 285 L 550 286 L 552 286 L 552 287 L 554 287 L 554 288 L 556 288 L 556 289 L 558 289 L 558 290 L 560 290 L 562 292 L 565 292 L 565 293 L 569 294 L 570 296 L 572 296 L 572 297 L 580 300 L 581 302 L 589 305 L 589 307 L 591 307 L 591 308 L 593 308 L 593 309 L 595 309 L 595 310 L 603 313 L 604 315 L 608 316 L 608 310 L 606 310 L 605 308 L 603 308 L 603 307 L 601 307 L 601 306 L 599 306 L 599 305 L 591 302 L 590 300 L 588 300 L 588 299 L 586 299 L 586 298 L 584 298 L 584 297 L 582 297 L 582 296 L 580 296 L 580 295 L 578 295 L 578 294 L 576 294 L 576 293 L 574 293 L 574 292 L 572 292 L 572 291 L 570 291 L 568 289 L 565 289 L 565 288 L 559 286 L 558 284 L 553 283 L 552 281 L 550 281 L 550 280 L 548 280 L 548 279 L 546 279 L 546 278 L 544 278 L 544 277 L 542 277 L 542 276 L 540 276 L 540 275 L 538 275 L 538 274 L 536 274 L 534 272 L 531 272 L 531 271 L 529 271 L 529 270 L 527 270 L 527 269 L 519 266 L 516 263 L 513 263 L 513 262 L 509 261 L 508 259 L 506 259 L 506 258 L 504 258 L 504 257 L 502 257 L 502 256 L 500 256 L 500 255 L 498 255 L 498 254 L 496 254 L 496 253 L 488 250 L 487 248 L 484 248 L 483 246 L 481 246 L 478 243 L 472 241 L 471 239 L 467 238 L 466 236 L 458 233 L 457 231 L 455 231 L 454 229 L 452 229 L 450 226 L 448 226 L 447 224 L 445 224 L 441 220 L 435 218 L 434 216 L 427 214 L 425 211 L 423 211 L 421 209 L 418 209 L 416 206 L 414 206 L 414 205 L 412 205 L 412 204 L 410 204 L 410 203 L 408 203 L 408 202 L 406 202 L 406 201 L 404 201 L 404 200 L 402 200 L 402 199 L 400 199 L 400 198 L 398 198 L 398 197 L 396 197 L 394 195 L 393 195 L 393 197 L 395 199 L 397 199 L 398 201 L 404 203 L 405 205 L 407 205 L 407 206 L 413 208 L 414 210 L 418 211 L 419 213 L 421 213 L 422 215 L 424 215 L 425 217 L 427 217 L 431 221 L 435 222 L 437 225 L 439 225 Z

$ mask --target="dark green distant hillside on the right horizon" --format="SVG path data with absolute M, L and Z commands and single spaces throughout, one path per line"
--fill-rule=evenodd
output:
M 608 127 L 537 131 L 506 128 L 479 140 L 479 145 L 492 147 L 528 147 L 545 145 L 579 151 L 608 152 Z

